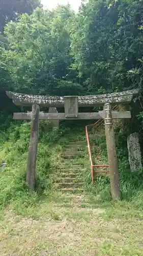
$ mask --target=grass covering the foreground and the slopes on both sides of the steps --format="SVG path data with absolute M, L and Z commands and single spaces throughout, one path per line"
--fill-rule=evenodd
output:
M 143 255 L 142 173 L 130 174 L 121 143 L 123 201 L 111 201 L 107 176 L 98 176 L 91 185 L 86 148 L 79 161 L 84 164 L 87 192 L 80 202 L 76 195 L 73 198 L 56 190 L 53 179 L 62 170 L 62 148 L 69 138 L 84 136 L 84 125 L 64 127 L 57 134 L 51 132 L 49 122 L 41 122 L 36 191 L 32 194 L 25 184 L 30 124 L 15 121 L 8 125 L 2 126 L 0 135 L 0 160 L 7 161 L 0 174 L 1 255 Z M 94 142 L 100 145 L 95 160 L 106 161 L 104 134 L 97 134 Z

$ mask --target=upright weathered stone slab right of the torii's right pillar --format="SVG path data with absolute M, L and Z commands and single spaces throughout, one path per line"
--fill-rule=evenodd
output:
M 142 168 L 138 133 L 131 134 L 127 139 L 127 144 L 131 172 L 134 172 L 135 170 Z

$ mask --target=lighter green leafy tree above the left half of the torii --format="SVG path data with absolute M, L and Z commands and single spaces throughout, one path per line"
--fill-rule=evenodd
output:
M 73 17 L 70 6 L 53 12 L 37 8 L 31 16 L 23 14 L 18 23 L 8 24 L 5 34 L 9 49 L 1 48 L 0 65 L 5 77 L 11 77 L 12 90 L 51 95 L 80 93 L 76 73 L 70 69 Z

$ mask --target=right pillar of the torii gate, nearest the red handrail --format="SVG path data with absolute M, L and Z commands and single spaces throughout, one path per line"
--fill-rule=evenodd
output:
M 113 119 L 110 103 L 104 104 L 104 124 L 110 174 L 111 196 L 113 200 L 120 200 L 121 190 L 118 170 L 118 157 L 116 151 L 115 134 L 113 130 Z

